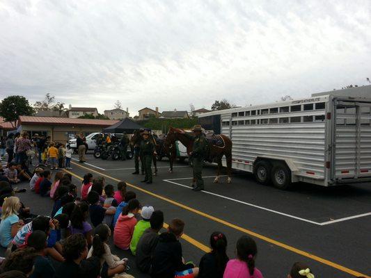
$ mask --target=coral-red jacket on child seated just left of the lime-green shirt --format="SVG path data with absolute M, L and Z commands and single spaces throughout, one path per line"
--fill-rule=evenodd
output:
M 128 250 L 132 241 L 134 227 L 136 225 L 135 215 L 120 214 L 113 231 L 113 243 L 120 249 Z

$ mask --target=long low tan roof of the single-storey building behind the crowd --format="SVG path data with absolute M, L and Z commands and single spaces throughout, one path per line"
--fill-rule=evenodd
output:
M 71 117 L 35 117 L 19 116 L 17 125 L 20 124 L 58 124 L 58 125 L 76 125 L 76 126 L 111 126 L 118 120 L 96 120 L 96 119 L 75 119 Z

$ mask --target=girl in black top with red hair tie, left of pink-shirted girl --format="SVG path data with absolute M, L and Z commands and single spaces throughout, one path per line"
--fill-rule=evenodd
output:
M 205 254 L 200 261 L 198 278 L 223 278 L 224 270 L 228 263 L 227 238 L 220 231 L 214 231 L 210 236 L 210 253 Z

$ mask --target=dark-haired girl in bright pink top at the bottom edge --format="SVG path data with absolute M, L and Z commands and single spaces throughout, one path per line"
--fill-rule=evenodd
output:
M 253 238 L 242 236 L 236 249 L 238 259 L 228 261 L 223 278 L 262 278 L 262 272 L 255 268 L 258 249 Z

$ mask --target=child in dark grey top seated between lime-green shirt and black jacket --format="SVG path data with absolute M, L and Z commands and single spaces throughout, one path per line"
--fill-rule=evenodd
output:
M 136 245 L 136 266 L 141 272 L 149 273 L 151 260 L 159 238 L 159 231 L 164 226 L 164 213 L 154 211 L 150 218 L 150 229 L 146 229 Z

